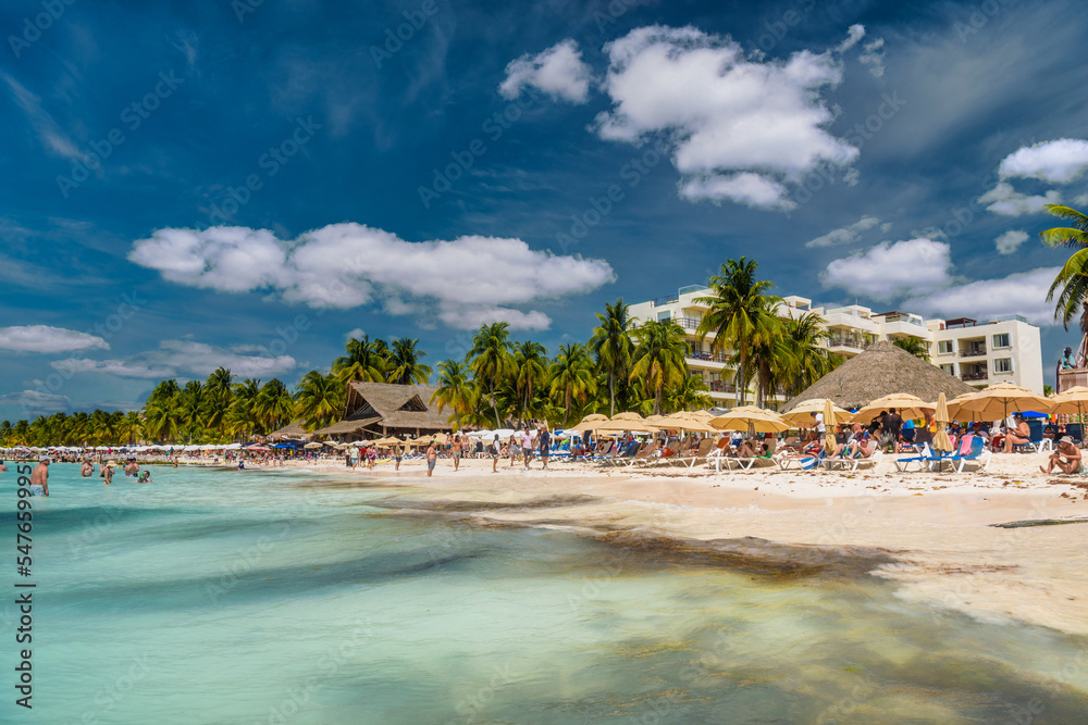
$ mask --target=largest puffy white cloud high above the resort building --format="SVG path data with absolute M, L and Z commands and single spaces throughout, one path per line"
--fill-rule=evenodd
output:
M 820 92 L 842 82 L 833 51 L 763 62 L 728 37 L 659 25 L 631 30 L 605 51 L 603 89 L 614 108 L 597 116 L 598 135 L 635 145 L 668 135 L 689 198 L 790 209 L 784 184 L 857 158 L 826 130 L 833 114 Z

